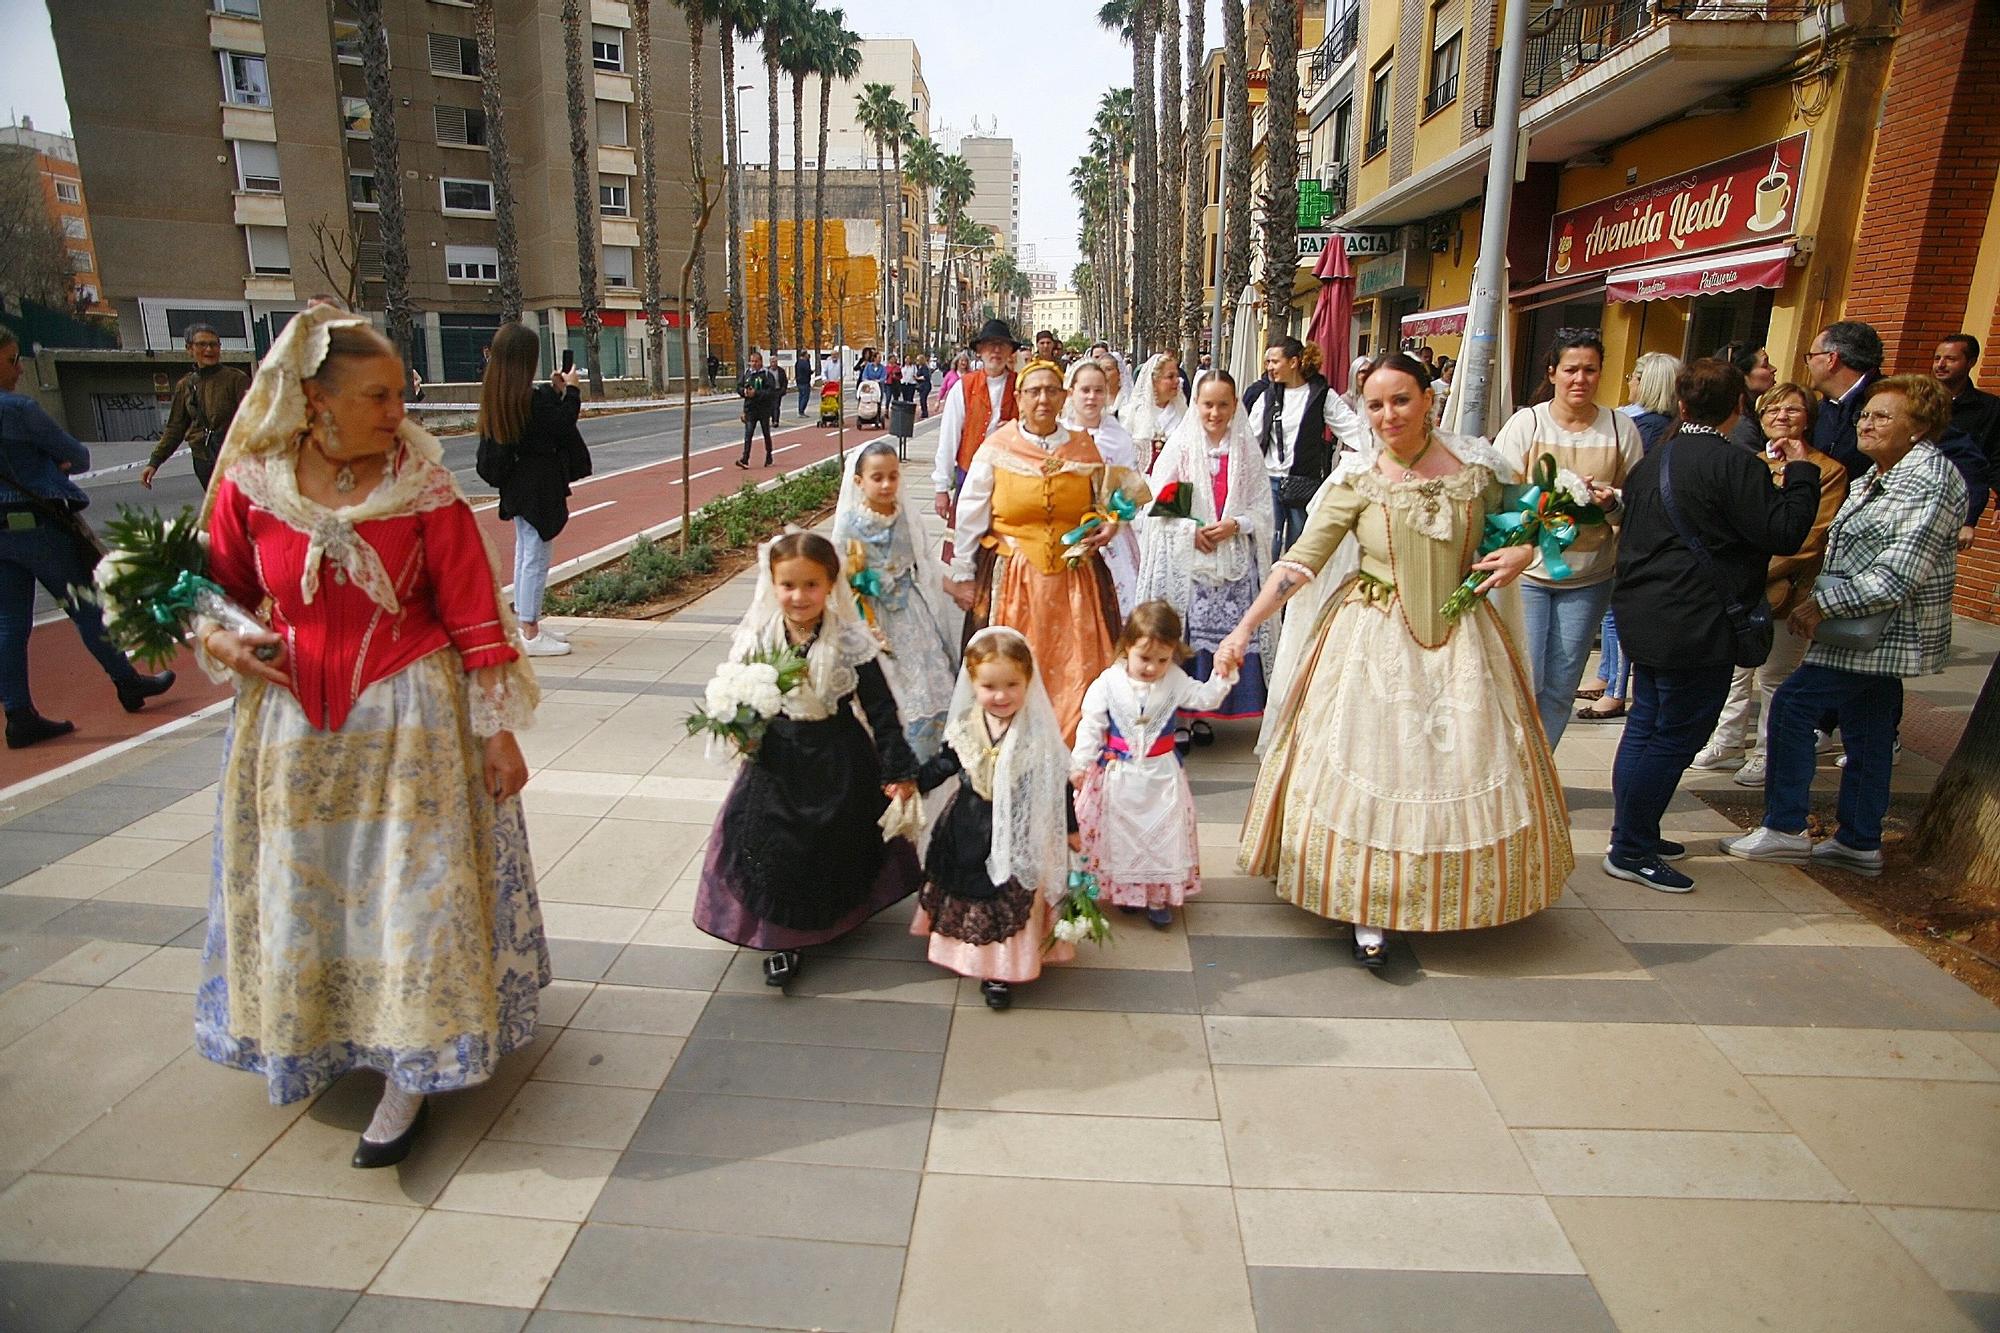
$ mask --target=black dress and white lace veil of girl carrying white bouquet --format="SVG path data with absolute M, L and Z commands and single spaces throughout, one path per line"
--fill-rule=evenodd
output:
M 786 642 L 766 546 L 730 656 Z M 786 953 L 838 939 L 918 883 L 916 849 L 906 839 L 884 843 L 878 823 L 888 809 L 882 787 L 914 779 L 916 757 L 880 646 L 842 588 L 826 598 L 804 654 L 806 681 L 784 697 L 716 815 L 694 899 L 696 927 L 748 949 Z

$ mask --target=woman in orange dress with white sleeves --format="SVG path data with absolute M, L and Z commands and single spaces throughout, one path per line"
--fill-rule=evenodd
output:
M 1114 492 L 1132 504 L 1152 492 L 1138 472 L 1108 464 L 1090 432 L 1062 424 L 1064 398 L 1062 366 L 1034 360 L 1020 372 L 1020 420 L 988 434 L 966 468 L 944 588 L 966 610 L 968 638 L 988 624 L 1022 632 L 1068 745 L 1084 691 L 1112 664 L 1122 618 L 1100 554 L 1116 522 L 1084 538 L 1076 560 L 1064 556 L 1062 536 L 1102 514 Z

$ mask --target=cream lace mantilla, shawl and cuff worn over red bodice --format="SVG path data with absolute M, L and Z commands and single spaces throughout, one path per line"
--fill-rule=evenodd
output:
M 250 390 L 230 420 L 216 470 L 236 482 L 258 508 L 306 536 L 306 562 L 300 574 L 304 602 L 310 604 L 318 596 L 322 566 L 332 562 L 368 594 L 368 600 L 396 614 L 402 610 L 396 584 L 382 566 L 382 556 L 356 526 L 464 504 L 466 496 L 444 466 L 444 448 L 436 436 L 408 416 L 396 426 L 388 472 L 374 490 L 346 508 L 326 508 L 300 494 L 294 460 L 312 426 L 306 380 L 320 372 L 332 332 L 342 326 L 368 326 L 368 320 L 338 306 L 312 306 L 292 316 L 258 364 L 256 378 L 250 380 Z M 220 486 L 210 486 L 202 500 L 204 530 L 214 516 L 218 490 Z M 480 544 L 486 550 L 488 576 L 494 580 L 500 624 L 508 644 L 520 654 L 502 669 L 496 687 L 474 691 L 474 731 L 492 735 L 532 725 L 542 693 L 522 650 L 520 626 L 508 608 L 508 598 L 500 594 L 500 560 L 484 532 Z

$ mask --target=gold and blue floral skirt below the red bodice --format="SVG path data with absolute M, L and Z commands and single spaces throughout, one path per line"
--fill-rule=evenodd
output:
M 520 801 L 484 791 L 464 671 L 434 652 L 318 731 L 236 699 L 194 1041 L 272 1103 L 352 1069 L 410 1093 L 484 1083 L 552 979 Z

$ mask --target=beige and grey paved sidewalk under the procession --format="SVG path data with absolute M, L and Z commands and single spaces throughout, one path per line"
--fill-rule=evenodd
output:
M 396 1171 L 346 1165 L 372 1079 L 274 1109 L 190 1049 L 218 719 L 0 813 L 0 1327 L 2000 1321 L 2000 1011 L 1806 875 L 1714 855 L 1690 795 L 1698 893 L 1600 875 L 1616 727 L 1558 757 L 1562 901 L 1400 939 L 1382 977 L 1232 877 L 1254 763 L 1224 729 L 1172 931 L 1120 921 L 992 1013 L 902 905 L 768 991 L 690 921 L 728 773 L 680 725 L 748 590 L 538 662 L 562 981 Z M 1970 707 L 1972 646 L 1932 703 Z

